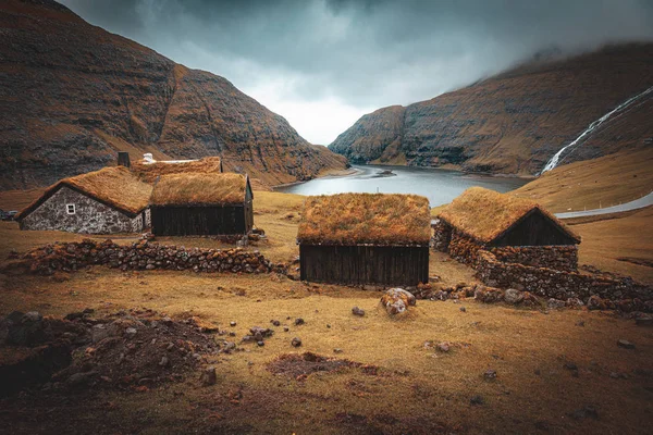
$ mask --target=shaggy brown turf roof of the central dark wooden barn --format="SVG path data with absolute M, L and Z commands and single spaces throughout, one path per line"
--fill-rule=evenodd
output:
M 429 200 L 417 195 L 308 197 L 297 239 L 310 245 L 428 245 Z

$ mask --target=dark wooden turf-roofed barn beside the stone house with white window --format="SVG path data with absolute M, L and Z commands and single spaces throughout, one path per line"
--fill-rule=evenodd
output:
M 254 226 L 249 177 L 231 173 L 163 175 L 150 200 L 157 236 L 245 235 Z

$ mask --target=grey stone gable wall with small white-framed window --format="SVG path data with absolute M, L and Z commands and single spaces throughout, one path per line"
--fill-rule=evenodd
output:
M 75 206 L 74 214 L 69 214 L 67 204 Z M 61 187 L 21 222 L 21 229 L 85 234 L 139 233 L 143 228 L 143 214 L 132 219 L 66 186 Z

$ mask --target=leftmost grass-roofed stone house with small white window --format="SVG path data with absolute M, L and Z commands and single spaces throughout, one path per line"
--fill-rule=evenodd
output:
M 61 179 L 16 220 L 21 229 L 137 233 L 148 226 L 151 191 L 127 167 L 104 167 Z

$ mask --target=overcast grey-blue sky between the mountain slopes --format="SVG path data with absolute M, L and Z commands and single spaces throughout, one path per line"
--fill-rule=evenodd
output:
M 63 0 L 91 24 L 210 71 L 328 145 L 378 108 L 533 53 L 653 40 L 653 0 Z

